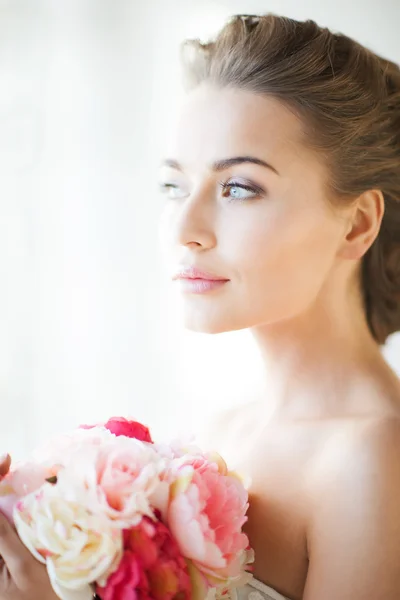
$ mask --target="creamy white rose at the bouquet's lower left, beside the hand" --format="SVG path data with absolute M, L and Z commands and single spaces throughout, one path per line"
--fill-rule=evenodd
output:
M 14 520 L 22 542 L 46 563 L 61 598 L 62 588 L 84 591 L 94 581 L 105 583 L 121 559 L 121 531 L 67 501 L 57 485 L 45 484 L 26 496 L 17 504 Z

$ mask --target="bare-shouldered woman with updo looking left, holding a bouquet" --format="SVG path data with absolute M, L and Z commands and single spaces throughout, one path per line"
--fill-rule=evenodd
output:
M 252 480 L 239 597 L 398 600 L 400 385 L 380 346 L 400 329 L 400 71 L 271 15 L 185 48 L 161 175 L 172 277 L 189 328 L 252 329 L 268 385 L 207 434 Z M 54 598 L 2 531 L 0 599 Z

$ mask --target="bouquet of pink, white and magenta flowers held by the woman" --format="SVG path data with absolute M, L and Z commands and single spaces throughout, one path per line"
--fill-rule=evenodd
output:
M 121 417 L 56 437 L 0 482 L 0 510 L 62 600 L 229 598 L 251 578 L 247 508 L 220 456 Z

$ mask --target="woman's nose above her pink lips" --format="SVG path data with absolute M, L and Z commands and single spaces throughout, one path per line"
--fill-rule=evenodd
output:
M 176 209 L 174 238 L 178 246 L 205 251 L 217 243 L 216 207 L 210 194 L 204 190 L 192 193 Z

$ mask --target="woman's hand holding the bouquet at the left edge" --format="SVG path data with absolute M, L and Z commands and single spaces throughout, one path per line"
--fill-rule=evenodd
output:
M 11 458 L 0 458 L 0 480 L 10 470 Z M 17 532 L 0 513 L 0 600 L 58 600 L 46 567 L 23 545 Z

